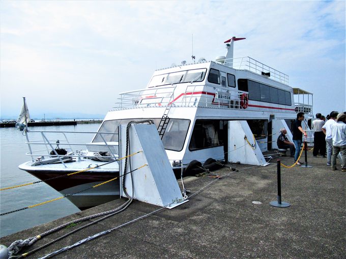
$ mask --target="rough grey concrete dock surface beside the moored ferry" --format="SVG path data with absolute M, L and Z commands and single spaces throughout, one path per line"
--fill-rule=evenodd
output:
M 276 208 L 269 205 L 277 196 L 276 159 L 285 165 L 293 164 L 291 157 L 278 157 L 266 167 L 229 164 L 239 172 L 226 168 L 213 172 L 220 179 L 187 177 L 184 183 L 191 190 L 189 195 L 197 192 L 189 202 L 170 210 L 164 208 L 55 258 L 346 258 L 346 173 L 341 172 L 340 165 L 339 170 L 331 171 L 326 158 L 312 157 L 309 151 L 308 164 L 312 168 L 281 167 L 282 201 L 291 206 Z M 125 201 L 112 201 L 3 237 L 0 243 L 9 246 L 15 240 L 116 208 Z M 157 209 L 134 201 L 120 214 L 28 257 L 42 257 Z M 44 237 L 19 254 L 90 222 Z

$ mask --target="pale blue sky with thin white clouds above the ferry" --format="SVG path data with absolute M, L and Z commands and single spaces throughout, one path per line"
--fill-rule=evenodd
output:
M 193 35 L 193 44 L 192 44 Z M 118 93 L 182 60 L 250 56 L 346 110 L 344 1 L 1 1 L 1 117 L 103 117 Z M 193 52 L 192 52 L 193 47 Z M 52 115 L 53 116 L 53 115 Z

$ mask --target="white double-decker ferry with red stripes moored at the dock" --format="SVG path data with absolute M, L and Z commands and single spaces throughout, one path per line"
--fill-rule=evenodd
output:
M 19 168 L 40 180 L 57 177 L 46 183 L 84 209 L 119 198 L 119 181 L 92 188 L 119 176 L 118 162 L 90 168 L 104 163 L 94 160 L 100 157 L 94 152 L 107 152 L 101 160 L 118 157 L 118 126 L 129 121 L 154 121 L 176 170 L 193 160 L 227 161 L 229 120 L 246 120 L 261 150 L 270 150 L 271 141 L 276 141 L 271 139 L 271 120 L 285 119 L 291 125 L 297 112 L 312 115 L 312 105 L 294 100 L 295 93 L 312 94 L 290 87 L 289 76 L 253 58 L 234 58 L 234 42 L 242 39 L 225 41 L 226 56 L 216 61 L 183 61 L 155 71 L 145 89 L 120 93 L 117 107 L 107 113 L 90 143 L 69 142 L 67 134 L 78 132 L 27 131 L 39 134 L 43 141 L 27 139 L 32 161 Z M 66 154 L 54 151 L 57 138 L 57 147 Z M 78 150 L 81 145 L 84 149 Z M 37 146 L 41 149 L 34 150 Z M 85 169 L 90 170 L 62 177 Z

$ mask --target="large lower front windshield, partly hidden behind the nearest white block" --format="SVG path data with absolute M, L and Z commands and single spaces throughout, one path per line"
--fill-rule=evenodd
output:
M 119 119 L 119 120 L 106 120 L 102 123 L 99 132 L 111 132 L 118 133 L 118 126 L 121 124 L 127 124 L 130 121 L 140 121 L 140 119 Z M 154 121 L 156 127 L 158 127 L 159 118 L 151 119 Z M 170 119 L 166 127 L 166 131 L 162 138 L 162 143 L 165 149 L 181 151 L 183 149 L 187 130 L 189 129 L 190 120 L 187 119 Z M 106 142 L 118 142 L 118 135 L 103 134 L 103 139 Z M 96 134 L 93 143 L 103 142 L 100 134 Z

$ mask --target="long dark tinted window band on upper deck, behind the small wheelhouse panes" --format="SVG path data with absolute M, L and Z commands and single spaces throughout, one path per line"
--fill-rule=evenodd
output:
M 238 89 L 249 92 L 249 100 L 292 105 L 291 92 L 248 79 L 238 79 Z

